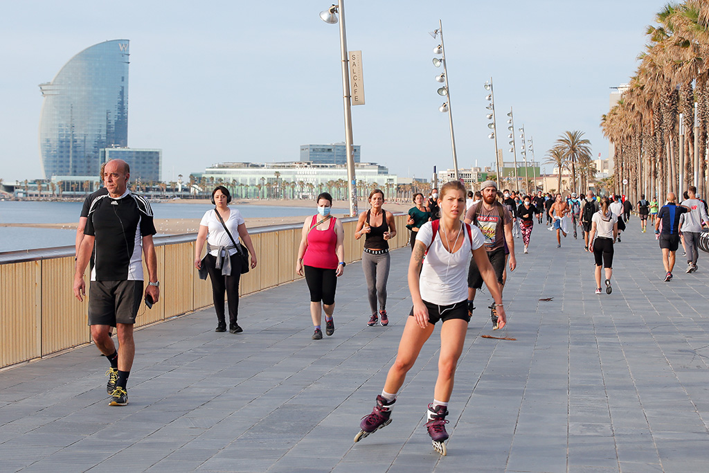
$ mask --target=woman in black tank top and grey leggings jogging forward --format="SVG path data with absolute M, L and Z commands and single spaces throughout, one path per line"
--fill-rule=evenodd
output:
M 369 194 L 372 208 L 359 214 L 354 238 L 359 240 L 366 235 L 362 253 L 362 270 L 367 279 L 367 296 L 372 316 L 367 325 L 376 325 L 381 316 L 381 325 L 386 326 L 386 279 L 389 278 L 389 239 L 396 235 L 396 223 L 391 212 L 381 208 L 384 204 L 384 192 L 374 189 Z M 379 311 L 377 311 L 379 303 Z

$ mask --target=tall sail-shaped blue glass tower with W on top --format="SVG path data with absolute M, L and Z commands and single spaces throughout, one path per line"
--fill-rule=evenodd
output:
M 93 45 L 40 84 L 46 178 L 98 176 L 101 150 L 128 146 L 128 54 L 128 40 Z

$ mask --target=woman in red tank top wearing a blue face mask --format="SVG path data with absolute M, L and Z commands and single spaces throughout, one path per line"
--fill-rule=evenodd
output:
M 328 192 L 318 196 L 318 213 L 303 222 L 303 237 L 298 247 L 296 273 L 305 272 L 311 293 L 311 317 L 315 333 L 313 340 L 323 338 L 322 323 L 325 309 L 325 333 L 335 333 L 333 311 L 335 311 L 335 288 L 337 277 L 345 269 L 344 230 L 342 222 L 330 215 L 333 197 Z

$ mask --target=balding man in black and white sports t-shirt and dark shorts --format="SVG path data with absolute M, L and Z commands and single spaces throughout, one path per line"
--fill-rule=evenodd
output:
M 143 261 L 149 274 L 145 299 L 151 304 L 160 299 L 157 281 L 157 257 L 152 242 L 155 226 L 147 200 L 128 191 L 130 168 L 123 160 L 111 160 L 104 169 L 104 184 L 108 194 L 91 201 L 86 216 L 86 228 L 74 273 L 74 296 L 79 301 L 86 295 L 84 270 L 91 250 L 96 252 L 89 286 L 89 325 L 91 338 L 111 367 L 108 369 L 106 390 L 111 394 L 109 406 L 128 404 L 125 389 L 133 366 L 135 344 L 133 325 L 143 299 Z M 118 330 L 121 352 L 108 335 L 111 325 Z

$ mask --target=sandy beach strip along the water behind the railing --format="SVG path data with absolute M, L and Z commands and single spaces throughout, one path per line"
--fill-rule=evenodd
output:
M 161 201 L 164 204 L 194 204 L 208 208 L 211 206 L 209 199 L 174 199 Z M 312 206 L 315 214 L 316 205 L 312 201 L 303 200 L 274 200 L 274 199 L 235 199 L 231 204 L 233 208 L 240 206 L 281 206 L 281 207 L 305 207 Z M 357 201 L 359 211 L 369 208 L 367 201 Z M 408 212 L 413 204 L 400 204 L 396 202 L 385 202 L 384 208 L 393 213 Z M 350 208 L 348 201 L 333 201 L 333 215 L 344 217 Z M 247 228 L 259 228 L 272 225 L 284 225 L 286 223 L 303 223 L 305 216 L 290 217 L 251 217 L 245 218 Z M 11 227 L 31 227 L 31 228 L 76 228 L 76 222 L 67 223 L 4 223 L 0 226 Z M 196 233 L 199 230 L 199 218 L 155 218 L 155 229 L 162 235 L 181 235 L 183 233 Z

